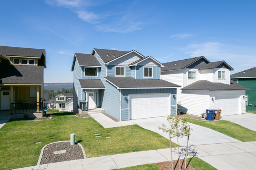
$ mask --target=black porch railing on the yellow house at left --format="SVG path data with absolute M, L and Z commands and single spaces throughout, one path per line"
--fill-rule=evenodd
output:
M 41 113 L 43 112 L 43 99 L 40 102 L 20 102 L 11 103 L 11 115 L 23 113 Z

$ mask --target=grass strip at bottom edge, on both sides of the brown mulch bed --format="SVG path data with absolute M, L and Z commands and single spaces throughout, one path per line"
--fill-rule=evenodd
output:
M 182 160 L 180 163 L 182 163 Z M 188 158 L 187 163 L 193 166 L 196 170 L 217 170 L 216 168 L 204 162 L 202 159 L 199 159 L 198 157 Z M 185 160 L 184 160 L 184 164 L 185 164 Z M 115 170 L 118 170 L 118 169 L 115 169 Z M 152 164 L 121 168 L 119 170 L 161 170 L 161 169 L 158 168 L 156 164 L 152 163 Z

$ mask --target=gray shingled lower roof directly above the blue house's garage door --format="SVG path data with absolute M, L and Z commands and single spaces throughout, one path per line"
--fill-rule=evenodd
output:
M 104 77 L 118 88 L 173 88 L 177 84 L 161 79 L 134 79 L 132 77 Z

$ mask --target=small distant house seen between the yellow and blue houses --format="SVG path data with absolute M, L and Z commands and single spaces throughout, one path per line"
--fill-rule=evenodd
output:
M 56 109 L 73 110 L 73 93 L 60 93 L 55 98 Z

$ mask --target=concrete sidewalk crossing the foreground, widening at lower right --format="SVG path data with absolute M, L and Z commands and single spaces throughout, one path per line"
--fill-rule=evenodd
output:
M 185 147 L 180 148 L 180 154 L 180 159 L 184 159 Z M 188 157 L 199 157 L 218 170 L 254 169 L 256 166 L 256 142 L 189 146 Z M 174 148 L 173 160 L 177 159 L 177 148 Z M 171 160 L 169 148 L 78 159 L 16 170 L 111 170 L 168 160 Z

